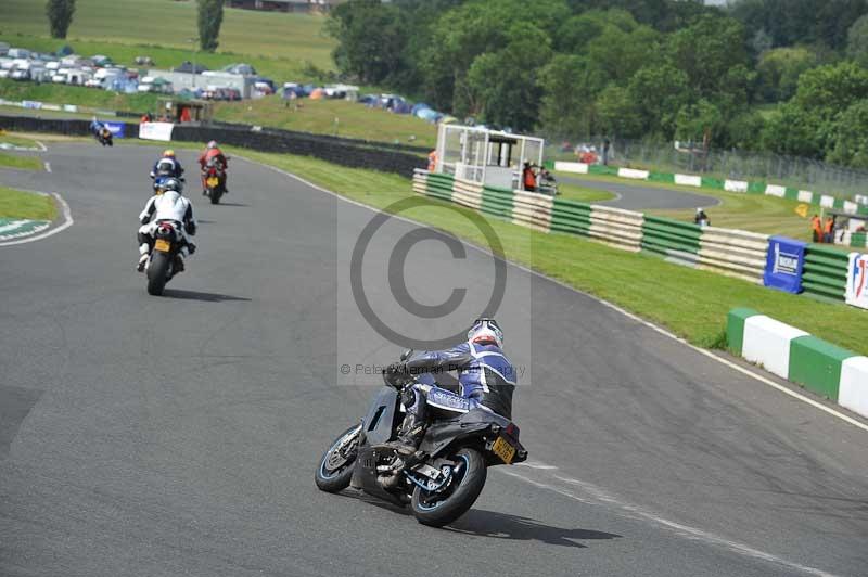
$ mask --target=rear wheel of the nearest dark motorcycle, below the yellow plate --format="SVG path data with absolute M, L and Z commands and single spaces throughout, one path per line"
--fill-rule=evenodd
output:
M 410 508 L 422 525 L 448 525 L 473 507 L 485 487 L 487 470 L 477 450 L 464 447 L 451 460 L 456 463 L 452 479 L 443 490 L 427 491 L 419 486 L 413 489 Z

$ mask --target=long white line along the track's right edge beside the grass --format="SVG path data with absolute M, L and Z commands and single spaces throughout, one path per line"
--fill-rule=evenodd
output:
M 252 161 L 251 158 L 247 158 L 247 157 L 242 156 L 240 154 L 235 154 L 235 156 L 238 156 L 239 158 L 244 158 L 248 163 L 257 164 L 259 166 L 265 166 L 266 168 L 269 168 L 269 169 L 271 169 L 271 170 L 273 170 L 276 172 L 279 172 L 281 175 L 288 176 L 288 177 L 290 177 L 292 179 L 295 179 L 295 180 L 297 180 L 299 182 L 304 182 L 305 184 L 307 184 L 308 187 L 310 187 L 312 189 L 316 189 L 318 191 L 324 192 L 327 194 L 331 194 L 335 198 L 340 198 L 340 200 L 342 200 L 342 201 L 344 201 L 346 203 L 354 204 L 356 206 L 360 206 L 360 207 L 366 208 L 368 210 L 371 210 L 373 213 L 380 213 L 380 210 L 378 210 L 376 208 L 373 208 L 371 206 L 368 206 L 367 204 L 362 204 L 360 202 L 354 201 L 352 198 L 347 198 L 346 196 L 342 196 L 341 194 L 337 194 L 336 192 L 332 192 L 332 191 L 330 191 L 328 189 L 323 189 L 322 187 L 320 187 L 318 184 L 315 184 L 315 183 L 310 182 L 309 180 L 306 180 L 306 179 L 304 179 L 304 178 L 302 178 L 299 176 L 293 175 L 292 172 L 288 172 L 286 170 L 282 170 L 280 168 L 275 167 L 275 166 L 270 166 L 270 165 L 267 165 L 267 164 L 264 164 L 264 163 L 259 163 L 257 161 Z M 409 218 L 406 218 L 406 217 L 395 216 L 395 215 L 390 215 L 390 216 L 392 216 L 392 218 L 395 218 L 395 219 L 398 219 L 398 220 L 404 220 L 405 222 L 410 222 L 412 225 L 417 225 L 417 226 L 421 226 L 421 227 L 427 227 L 427 225 L 424 225 L 422 222 L 417 222 L 416 220 L 412 220 L 412 219 L 409 219 Z M 486 254 L 488 256 L 494 257 L 494 255 L 492 254 L 490 251 L 487 251 L 487 249 L 485 249 L 485 248 L 483 248 L 481 246 L 477 246 L 475 244 L 472 244 L 472 243 L 470 243 L 468 241 L 464 241 L 464 240 L 461 240 L 461 239 L 459 239 L 459 240 L 463 244 L 465 244 L 467 246 L 470 246 L 471 248 L 475 248 L 476 251 L 480 251 L 480 252 L 482 252 L 482 253 L 484 253 L 484 254 Z M 541 273 L 539 271 L 536 271 L 534 269 L 527 268 L 524 265 L 520 265 L 520 264 L 513 262 L 511 260 L 508 260 L 508 262 L 510 265 L 512 265 L 513 267 L 518 267 L 519 269 L 521 269 L 521 270 L 523 270 L 523 271 L 525 271 L 525 272 L 527 272 L 529 274 L 534 274 L 534 275 L 539 277 L 541 279 L 546 279 L 547 281 L 553 282 L 553 283 L 556 283 L 556 284 L 558 284 L 560 286 L 563 286 L 564 288 L 573 291 L 574 293 L 578 293 L 580 295 L 584 295 L 584 296 L 587 296 L 589 298 L 592 298 L 592 299 L 597 300 L 598 303 L 609 307 L 610 309 L 615 310 L 615 311 L 624 315 L 625 317 L 627 317 L 629 319 L 633 319 L 636 322 L 641 323 L 644 326 L 648 326 L 649 329 L 652 329 L 652 330 L 656 331 L 658 333 L 662 334 L 663 336 L 667 336 L 667 337 L 672 338 L 673 341 L 677 341 L 678 343 L 685 345 L 686 347 L 689 347 L 689 348 L 695 350 L 700 355 L 703 355 L 703 356 L 705 356 L 705 357 L 707 357 L 707 358 L 710 358 L 712 360 L 715 360 L 715 361 L 717 361 L 717 362 L 719 362 L 722 364 L 725 364 L 725 366 L 729 367 L 730 369 L 733 369 L 733 370 L 736 370 L 736 371 L 738 371 L 738 372 L 740 372 L 740 373 L 742 373 L 742 374 L 744 374 L 746 376 L 750 376 L 751 379 L 754 379 L 754 380 L 763 383 L 764 385 L 768 385 L 768 386 L 770 386 L 773 388 L 776 388 L 776 389 L 780 390 L 781 393 L 784 393 L 784 394 L 789 395 L 790 397 L 793 397 L 794 399 L 799 399 L 799 400 L 801 400 L 801 401 L 803 401 L 803 402 L 805 402 L 807 405 L 810 405 L 812 407 L 814 407 L 816 409 L 819 409 L 819 410 L 821 410 L 821 411 L 824 411 L 824 412 L 826 412 L 826 413 L 828 413 L 828 414 L 830 414 L 832 416 L 835 416 L 835 418 L 844 421 L 845 423 L 848 423 L 848 424 L 854 425 L 854 426 L 856 426 L 858 428 L 861 428 L 863 431 L 868 432 L 868 425 L 867 424 L 865 424 L 865 423 L 863 423 L 860 421 L 857 421 L 856 419 L 853 419 L 852 416 L 850 416 L 847 414 L 844 414 L 841 411 L 837 411 L 837 410 L 832 409 L 831 407 L 827 407 L 826 405 L 824 405 L 821 402 L 818 402 L 818 401 L 816 401 L 816 400 L 814 400 L 814 399 L 812 399 L 809 397 L 806 397 L 805 395 L 802 395 L 801 393 L 797 393 L 795 390 L 792 390 L 791 388 L 788 388 L 788 387 L 786 387 L 783 385 L 780 385 L 780 384 L 771 381 L 770 379 L 767 379 L 767 377 L 763 376 L 760 373 L 755 373 L 755 372 L 751 371 L 750 369 L 745 369 L 744 367 L 741 367 L 740 364 L 737 364 L 737 363 L 735 363 L 735 362 L 732 362 L 730 360 L 727 360 L 727 359 L 724 359 L 722 357 L 718 357 L 717 355 L 715 355 L 711 350 L 706 350 L 706 349 L 704 349 L 702 347 L 698 347 L 695 345 L 692 345 L 692 344 L 688 343 L 687 341 L 685 341 L 684 338 L 681 338 L 680 336 L 671 333 L 669 331 L 663 329 L 662 326 L 658 326 L 656 324 L 654 324 L 652 322 L 649 322 L 649 321 L 647 321 L 647 320 L 644 320 L 642 318 L 639 318 L 636 315 L 634 315 L 633 312 L 629 312 L 629 311 L 618 307 L 617 305 L 615 305 L 613 303 L 610 303 L 609 300 L 605 300 L 603 298 L 600 298 L 599 296 L 591 295 L 591 294 L 585 293 L 583 291 L 579 291 L 574 286 L 570 286 L 569 284 L 566 284 L 564 282 L 561 282 L 561 281 L 559 281 L 557 279 L 552 279 L 551 277 L 548 277 L 548 275 L 546 275 L 546 274 L 544 274 L 544 273 Z

